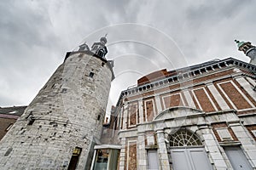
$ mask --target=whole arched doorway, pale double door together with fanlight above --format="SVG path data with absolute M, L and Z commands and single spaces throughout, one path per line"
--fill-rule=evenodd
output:
M 201 139 L 188 129 L 168 135 L 173 170 L 212 170 Z

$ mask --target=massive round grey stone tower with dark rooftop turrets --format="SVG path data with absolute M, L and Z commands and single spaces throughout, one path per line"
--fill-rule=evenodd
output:
M 0 142 L 1 169 L 89 169 L 113 80 L 106 37 L 66 58 Z

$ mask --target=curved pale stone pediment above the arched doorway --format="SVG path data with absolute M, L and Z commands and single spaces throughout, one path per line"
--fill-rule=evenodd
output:
M 184 117 L 184 116 L 198 116 L 204 113 L 205 112 L 194 109 L 194 108 L 178 106 L 178 107 L 168 108 L 165 111 L 160 112 L 158 116 L 154 117 L 153 121 L 175 119 L 175 118 Z

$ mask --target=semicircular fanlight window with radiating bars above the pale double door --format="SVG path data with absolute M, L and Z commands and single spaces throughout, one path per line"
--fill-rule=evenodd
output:
M 178 130 L 170 135 L 170 146 L 195 146 L 202 145 L 195 133 L 191 133 L 186 129 Z

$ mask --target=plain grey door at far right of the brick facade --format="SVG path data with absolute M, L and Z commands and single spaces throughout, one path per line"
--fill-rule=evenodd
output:
M 253 169 L 239 146 L 225 147 L 224 150 L 234 170 Z

